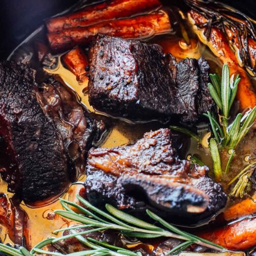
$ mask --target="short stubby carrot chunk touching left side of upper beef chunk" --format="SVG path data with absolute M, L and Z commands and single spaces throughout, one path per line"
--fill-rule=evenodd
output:
M 84 82 L 88 79 L 86 69 L 89 66 L 89 60 L 80 47 L 77 46 L 63 55 L 62 60 L 67 68 L 76 76 L 78 82 Z

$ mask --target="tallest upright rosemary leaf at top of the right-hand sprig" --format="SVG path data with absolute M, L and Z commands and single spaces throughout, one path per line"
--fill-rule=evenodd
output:
M 229 98 L 230 98 L 229 93 L 230 93 L 229 68 L 227 64 L 224 64 L 222 68 L 222 79 L 221 79 L 221 103 L 222 103 L 222 113 L 225 118 L 228 118 Z

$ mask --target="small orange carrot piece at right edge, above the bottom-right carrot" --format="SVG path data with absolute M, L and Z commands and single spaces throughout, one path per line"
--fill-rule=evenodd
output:
M 254 199 L 256 199 L 256 196 L 254 196 Z M 222 216 L 224 220 L 231 221 L 250 214 L 256 214 L 256 203 L 252 199 L 247 198 L 227 208 Z

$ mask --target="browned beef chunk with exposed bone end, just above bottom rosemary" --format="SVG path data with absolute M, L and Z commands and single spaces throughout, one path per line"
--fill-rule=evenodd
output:
M 206 166 L 191 168 L 177 157 L 168 129 L 146 133 L 134 145 L 92 148 L 85 185 L 94 205 L 108 202 L 134 212 L 147 207 L 164 218 L 192 222 L 215 214 L 227 199 Z

